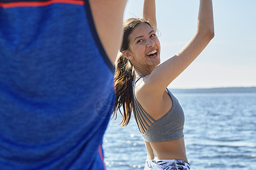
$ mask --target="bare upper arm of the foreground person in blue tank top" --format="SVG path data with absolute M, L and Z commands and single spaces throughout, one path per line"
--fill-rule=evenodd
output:
M 127 0 L 89 0 L 98 36 L 113 65 L 122 41 L 126 2 Z

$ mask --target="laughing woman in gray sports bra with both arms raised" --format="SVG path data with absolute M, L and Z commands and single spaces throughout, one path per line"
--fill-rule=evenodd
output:
M 121 55 L 115 71 L 115 115 L 123 108 L 121 124 L 127 125 L 131 110 L 146 148 L 145 169 L 189 169 L 183 135 L 184 113 L 167 86 L 199 56 L 214 37 L 212 0 L 200 0 L 197 31 L 183 49 L 160 63 L 160 42 L 155 34 L 154 1 L 144 1 L 149 22 L 127 19 Z M 151 5 L 145 5 L 151 3 Z M 154 2 L 155 4 L 155 2 Z M 154 27 L 150 23 L 153 23 Z M 153 29 L 154 28 L 154 29 Z

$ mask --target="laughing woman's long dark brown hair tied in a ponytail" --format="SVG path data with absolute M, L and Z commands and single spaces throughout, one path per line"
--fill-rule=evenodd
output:
M 141 23 L 148 23 L 144 19 L 130 18 L 123 22 L 123 41 L 120 52 L 123 50 L 129 50 L 129 36 L 133 29 Z M 150 25 L 150 27 L 152 27 Z M 115 88 L 115 107 L 113 117 L 117 117 L 117 111 L 121 113 L 123 119 L 121 122 L 122 126 L 126 126 L 131 118 L 131 111 L 133 105 L 133 92 L 132 92 L 132 82 L 133 82 L 133 65 L 130 60 L 127 59 L 122 54 L 117 58 L 115 75 L 114 75 L 114 88 Z M 120 108 L 123 108 L 123 113 Z

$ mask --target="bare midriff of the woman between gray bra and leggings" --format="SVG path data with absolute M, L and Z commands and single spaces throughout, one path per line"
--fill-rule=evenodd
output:
M 179 159 L 188 162 L 184 138 L 164 142 L 145 142 L 147 160 Z

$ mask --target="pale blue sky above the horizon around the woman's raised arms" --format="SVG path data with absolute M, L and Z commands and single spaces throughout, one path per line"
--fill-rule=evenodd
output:
M 128 0 L 124 19 L 142 18 L 143 0 Z M 213 0 L 214 39 L 168 88 L 256 87 L 256 1 Z M 161 62 L 196 32 L 199 0 L 156 0 Z

